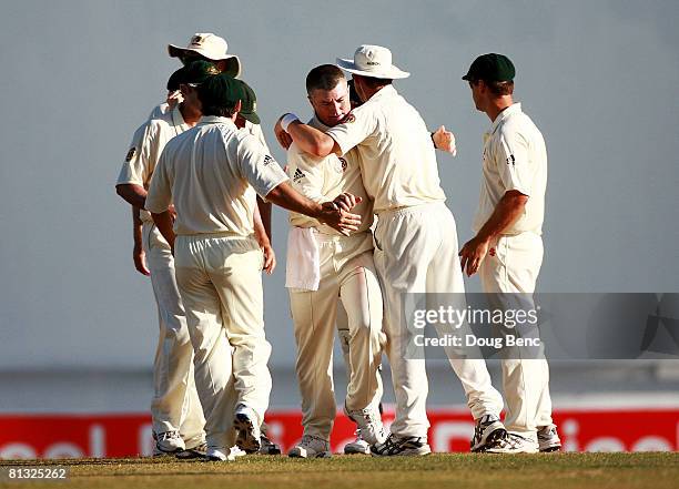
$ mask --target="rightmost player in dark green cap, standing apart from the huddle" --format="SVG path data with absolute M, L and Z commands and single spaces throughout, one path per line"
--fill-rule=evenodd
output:
M 483 181 L 475 236 L 459 252 L 467 275 L 478 272 L 491 302 L 507 307 L 511 294 L 533 296 L 543 263 L 547 151 L 543 134 L 513 100 L 515 68 L 483 54 L 463 77 L 476 109 L 491 121 L 484 135 Z M 533 304 L 531 298 L 529 298 Z M 519 349 L 517 353 L 521 353 Z M 501 360 L 507 401 L 507 444 L 524 451 L 555 451 L 561 442 L 551 420 L 549 368 L 538 358 Z

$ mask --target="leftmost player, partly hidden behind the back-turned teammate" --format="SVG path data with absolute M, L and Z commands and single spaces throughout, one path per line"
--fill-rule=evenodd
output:
M 186 84 L 216 74 L 215 68 L 199 62 L 189 72 L 173 73 Z M 181 102 L 174 109 L 146 121 L 136 132 L 123 163 L 116 192 L 136 208 L 144 208 L 146 189 L 160 154 L 172 137 L 194 126 L 201 118 L 200 106 Z M 193 348 L 189 338 L 184 308 L 174 278 L 174 259 L 170 246 L 153 225 L 151 214 L 141 212 L 140 235 L 158 304 L 160 336 L 153 364 L 154 397 L 151 404 L 154 455 L 181 454 L 183 458 L 204 455 L 202 408 L 193 381 Z

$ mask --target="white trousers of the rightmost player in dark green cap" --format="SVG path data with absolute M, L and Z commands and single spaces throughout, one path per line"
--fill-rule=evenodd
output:
M 500 236 L 479 267 L 485 293 L 533 294 L 543 264 L 543 238 L 535 233 Z M 503 306 L 501 295 L 489 296 Z M 520 353 L 520 348 L 517 353 Z M 536 429 L 551 424 L 549 367 L 541 358 L 503 359 L 503 390 L 507 400 L 505 425 L 509 431 L 537 441 Z

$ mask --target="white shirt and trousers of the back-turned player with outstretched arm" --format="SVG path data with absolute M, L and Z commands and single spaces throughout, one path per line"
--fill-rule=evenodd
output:
M 262 144 L 231 119 L 203 116 L 165 146 L 151 181 L 146 208 L 161 213 L 173 200 L 176 210 L 176 279 L 210 447 L 231 444 L 231 381 L 237 401 L 256 412 L 257 422 L 268 406 L 264 256 L 253 234 L 253 215 L 255 191 L 265 197 L 286 180 Z

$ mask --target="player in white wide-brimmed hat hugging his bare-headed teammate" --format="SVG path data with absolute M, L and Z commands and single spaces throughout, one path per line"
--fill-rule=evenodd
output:
M 365 103 L 325 133 L 302 124 L 294 114 L 285 114 L 277 131 L 287 132 L 303 151 L 318 157 L 357 149 L 363 181 L 378 215 L 375 265 L 383 285 L 386 353 L 396 394 L 392 432 L 372 447 L 372 454 L 426 455 L 430 448 L 425 361 L 406 355 L 413 335 L 402 310 L 406 293 L 464 292 L 455 220 L 445 205 L 430 134 L 417 110 L 392 84 L 409 73 L 392 64 L 391 51 L 377 45 L 362 45 L 353 60 L 338 59 L 337 64 L 353 74 Z M 501 396 L 493 388 L 483 359 L 450 357 L 450 364 L 476 419 L 473 449 L 487 449 L 506 436 L 499 420 Z

